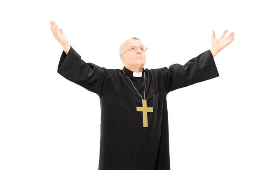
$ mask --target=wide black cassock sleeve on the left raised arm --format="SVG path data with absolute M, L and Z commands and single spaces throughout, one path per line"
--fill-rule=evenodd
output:
M 90 62 L 84 62 L 72 46 L 67 55 L 64 51 L 62 52 L 57 72 L 71 82 L 98 94 L 98 96 L 107 91 L 107 69 Z

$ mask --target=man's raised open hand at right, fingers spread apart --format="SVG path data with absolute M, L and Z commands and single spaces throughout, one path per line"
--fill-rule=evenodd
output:
M 215 32 L 212 31 L 212 47 L 216 48 L 218 52 L 227 47 L 227 45 L 229 45 L 235 39 L 233 38 L 235 33 L 231 32 L 228 37 L 225 37 L 226 33 L 227 29 L 219 39 L 215 39 Z

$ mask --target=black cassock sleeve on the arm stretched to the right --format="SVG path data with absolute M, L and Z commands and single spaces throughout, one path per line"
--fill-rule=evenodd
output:
M 190 59 L 185 65 L 173 64 L 169 68 L 160 68 L 159 71 L 164 79 L 166 94 L 178 88 L 219 77 L 210 50 Z

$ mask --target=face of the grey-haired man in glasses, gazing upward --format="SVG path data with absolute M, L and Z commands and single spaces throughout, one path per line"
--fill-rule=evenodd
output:
M 137 47 L 135 51 L 134 48 L 126 51 L 131 46 Z M 144 47 L 143 43 L 140 40 L 129 40 L 125 42 L 125 53 L 120 55 L 122 62 L 127 66 L 144 66 L 146 62 L 145 51 L 143 51 L 140 47 Z

